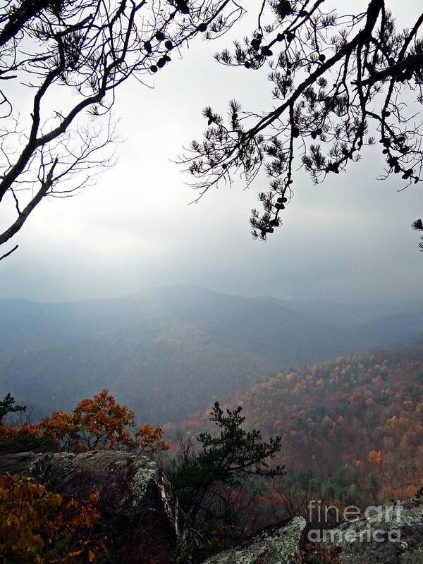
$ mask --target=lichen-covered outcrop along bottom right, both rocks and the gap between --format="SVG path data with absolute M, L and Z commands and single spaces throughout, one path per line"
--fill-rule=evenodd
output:
M 369 508 L 359 520 L 326 532 L 294 517 L 203 564 L 294 563 L 423 564 L 423 498 Z

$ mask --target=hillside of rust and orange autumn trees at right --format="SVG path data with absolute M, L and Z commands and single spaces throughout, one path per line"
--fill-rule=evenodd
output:
M 243 405 L 247 427 L 281 436 L 279 462 L 320 496 L 383 501 L 423 485 L 423 345 L 281 372 L 225 405 Z M 197 434 L 208 417 L 183 430 Z

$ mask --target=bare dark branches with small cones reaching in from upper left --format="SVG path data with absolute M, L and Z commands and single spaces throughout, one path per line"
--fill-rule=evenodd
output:
M 148 81 L 195 35 L 221 35 L 242 11 L 233 0 L 5 0 L 0 202 L 16 215 L 0 247 L 45 197 L 73 195 L 111 166 L 110 112 L 125 80 Z

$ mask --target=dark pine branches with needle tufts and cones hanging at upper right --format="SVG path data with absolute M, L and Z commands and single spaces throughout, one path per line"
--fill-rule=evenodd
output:
M 422 181 L 423 13 L 398 31 L 384 0 L 355 14 L 324 11 L 324 4 L 259 3 L 250 37 L 216 59 L 247 72 L 268 64 L 276 106 L 257 113 L 233 100 L 227 119 L 205 108 L 204 139 L 192 141 L 181 159 L 195 177 L 197 199 L 236 173 L 250 185 L 264 168 L 269 190 L 259 193 L 262 211 L 253 209 L 250 219 L 252 235 L 262 240 L 282 223 L 294 171 L 305 168 L 320 183 L 359 161 L 375 136 L 386 159 L 381 178 L 400 175 L 403 188 Z

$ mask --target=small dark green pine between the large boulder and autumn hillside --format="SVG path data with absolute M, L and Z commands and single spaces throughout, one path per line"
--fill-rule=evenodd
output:
M 196 544 L 193 537 L 198 529 L 205 524 L 233 520 L 233 493 L 237 488 L 243 489 L 249 477 L 284 474 L 283 467 L 269 467 L 269 460 L 281 450 L 281 438 L 277 436 L 266 443 L 260 431 L 245 431 L 242 410 L 239 406 L 225 413 L 216 402 L 210 420 L 219 433 L 201 433 L 197 437 L 198 451 L 192 441 L 180 441 L 180 453 L 169 475 L 180 502 L 188 553 Z

